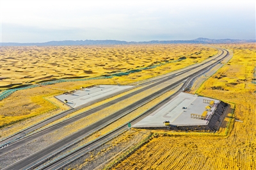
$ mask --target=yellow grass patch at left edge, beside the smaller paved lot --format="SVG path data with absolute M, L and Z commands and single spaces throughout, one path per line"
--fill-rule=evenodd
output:
M 58 109 L 57 105 L 45 99 L 49 94 L 58 93 L 60 91 L 49 88 L 33 88 L 13 93 L 0 103 L 0 127 Z

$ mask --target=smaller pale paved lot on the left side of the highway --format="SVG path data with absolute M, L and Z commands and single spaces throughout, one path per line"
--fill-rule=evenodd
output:
M 66 99 L 68 101 L 67 104 L 70 105 L 70 107 L 78 107 L 79 105 L 92 102 L 93 100 L 132 87 L 133 86 L 100 85 L 99 87 L 84 88 L 83 90 L 79 89 L 70 95 L 58 95 L 56 98 L 60 99 L 62 102 Z

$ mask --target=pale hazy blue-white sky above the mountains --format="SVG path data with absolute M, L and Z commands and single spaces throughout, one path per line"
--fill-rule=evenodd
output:
M 255 39 L 255 1 L 0 2 L 1 42 Z

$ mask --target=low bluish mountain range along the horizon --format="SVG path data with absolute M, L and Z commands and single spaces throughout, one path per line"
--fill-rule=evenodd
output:
M 149 41 L 149 42 L 125 42 L 118 40 L 65 40 L 44 43 L 1 43 L 2 46 L 53 46 L 53 45 L 129 45 L 129 44 L 168 44 L 168 43 L 247 43 L 256 40 L 232 40 L 232 39 L 209 39 L 196 38 L 195 40 L 170 40 L 170 41 Z

